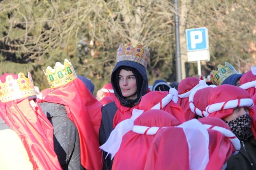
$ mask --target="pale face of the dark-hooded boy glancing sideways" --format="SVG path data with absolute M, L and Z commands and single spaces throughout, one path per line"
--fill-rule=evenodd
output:
M 119 86 L 125 99 L 137 98 L 137 84 L 132 71 L 121 69 L 119 73 Z

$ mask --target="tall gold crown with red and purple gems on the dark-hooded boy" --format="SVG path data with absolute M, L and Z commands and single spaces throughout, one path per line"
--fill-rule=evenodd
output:
M 132 46 L 131 42 L 128 42 L 126 46 L 121 43 L 117 49 L 116 62 L 129 60 L 137 62 L 147 68 L 149 51 L 148 48 L 143 49 L 141 44 L 137 44 L 136 47 Z

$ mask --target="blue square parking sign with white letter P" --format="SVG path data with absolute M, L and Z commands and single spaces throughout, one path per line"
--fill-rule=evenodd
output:
M 186 29 L 187 51 L 209 49 L 208 29 L 206 27 Z

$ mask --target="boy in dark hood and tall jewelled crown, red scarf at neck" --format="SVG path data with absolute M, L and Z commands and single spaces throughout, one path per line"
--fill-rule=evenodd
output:
M 111 74 L 115 101 L 102 108 L 102 121 L 100 126 L 100 145 L 106 143 L 111 131 L 117 124 L 132 116 L 132 110 L 138 108 L 141 97 L 148 93 L 147 63 L 149 51 L 143 49 L 141 44 L 133 46 L 131 42 L 122 43 L 117 49 L 116 65 Z M 113 160 L 110 155 L 105 159 L 103 152 L 103 170 L 110 170 Z

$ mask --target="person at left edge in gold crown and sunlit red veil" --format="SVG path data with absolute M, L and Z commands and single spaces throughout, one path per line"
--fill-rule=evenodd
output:
M 36 101 L 28 73 L 0 77 L 0 169 L 61 170 L 53 127 Z

